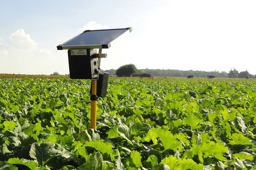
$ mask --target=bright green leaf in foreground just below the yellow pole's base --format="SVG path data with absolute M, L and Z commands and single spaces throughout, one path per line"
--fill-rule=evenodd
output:
M 93 147 L 96 150 L 100 151 L 102 154 L 110 154 L 113 152 L 112 145 L 104 140 L 89 141 L 84 144 L 84 146 Z

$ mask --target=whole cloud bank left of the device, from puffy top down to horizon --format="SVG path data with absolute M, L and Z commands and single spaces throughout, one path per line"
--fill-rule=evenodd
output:
M 58 61 L 50 49 L 39 48 L 29 34 L 20 29 L 0 39 L 0 73 L 50 74 Z M 61 65 L 58 65 L 58 71 Z M 64 71 L 63 71 L 64 72 Z

